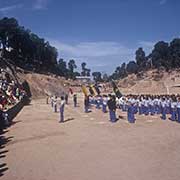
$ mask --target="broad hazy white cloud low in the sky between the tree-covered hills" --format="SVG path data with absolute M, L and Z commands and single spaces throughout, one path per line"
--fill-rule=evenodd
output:
M 112 73 L 116 66 L 124 61 L 134 60 L 134 49 L 118 42 L 79 42 L 76 44 L 62 43 L 48 39 L 58 49 L 59 56 L 65 60 L 75 59 L 77 64 L 87 62 L 92 71 Z

